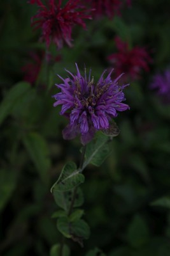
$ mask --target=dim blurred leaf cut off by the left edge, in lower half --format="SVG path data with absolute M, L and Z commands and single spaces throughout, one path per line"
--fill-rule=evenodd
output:
M 6 205 L 16 186 L 16 173 L 0 170 L 0 211 Z

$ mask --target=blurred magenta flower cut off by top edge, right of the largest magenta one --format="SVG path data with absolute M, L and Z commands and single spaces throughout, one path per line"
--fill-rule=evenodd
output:
M 131 5 L 131 0 L 87 0 L 94 9 L 94 16 L 101 17 L 107 15 L 112 19 L 115 15 L 120 15 L 120 10 L 126 2 L 128 6 Z

